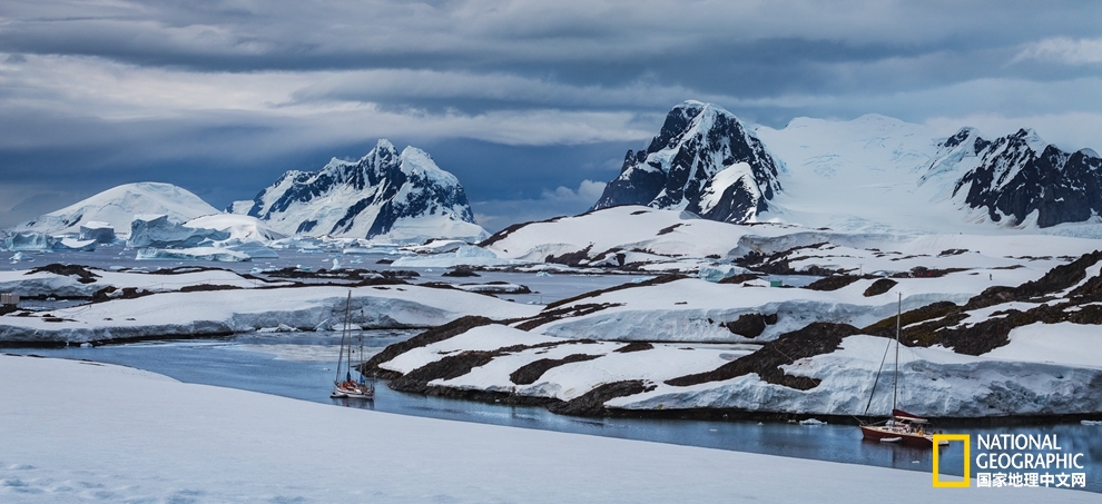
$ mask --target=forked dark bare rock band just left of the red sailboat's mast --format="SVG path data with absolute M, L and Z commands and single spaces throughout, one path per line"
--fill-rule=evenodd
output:
M 779 366 L 834 352 L 842 345 L 842 338 L 855 334 L 860 334 L 860 329 L 847 324 L 813 323 L 803 329 L 785 333 L 752 354 L 739 357 L 714 370 L 667 379 L 666 383 L 676 387 L 686 387 L 757 373 L 765 382 L 808 391 L 818 386 L 819 381 L 787 375 Z

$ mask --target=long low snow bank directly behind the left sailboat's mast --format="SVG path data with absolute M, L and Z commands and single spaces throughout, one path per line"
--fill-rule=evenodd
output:
M 464 315 L 530 317 L 539 307 L 454 289 L 413 285 L 302 287 L 166 293 L 136 299 L 57 309 L 29 317 L 0 317 L 2 342 L 97 342 L 120 338 L 200 336 L 262 327 L 313 329 L 344 320 L 345 297 L 363 309 L 364 327 L 430 327 Z

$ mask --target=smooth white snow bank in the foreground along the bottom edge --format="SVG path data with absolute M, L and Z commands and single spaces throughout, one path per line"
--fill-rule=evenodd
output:
M 19 405 L 0 408 L 9 502 L 882 503 L 948 492 L 921 472 L 391 415 L 91 363 L 0 356 L 0 401 Z M 42 394 L 43 383 L 66 386 Z

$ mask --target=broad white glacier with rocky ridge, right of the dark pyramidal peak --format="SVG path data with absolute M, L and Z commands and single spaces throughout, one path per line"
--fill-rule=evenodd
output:
M 784 129 L 754 131 L 783 165 L 784 190 L 759 220 L 968 234 L 1093 223 L 1102 209 L 1098 155 L 1065 152 L 1029 130 L 986 140 L 964 128 L 938 138 L 922 125 L 867 115 L 797 118 Z

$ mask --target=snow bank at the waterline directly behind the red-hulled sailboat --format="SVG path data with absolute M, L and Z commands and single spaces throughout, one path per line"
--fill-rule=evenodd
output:
M 1096 328 L 1095 328 L 1096 329 Z M 762 382 L 756 374 L 687 387 L 657 384 L 651 392 L 609 401 L 609 407 L 740 408 L 824 415 L 862 415 L 872 394 L 869 415 L 892 409 L 891 381 L 873 384 L 884 350 L 892 342 L 849 336 L 836 352 L 799 359 L 781 368 L 789 375 L 818 378 L 818 386 L 798 391 Z M 1013 345 L 1013 344 L 1012 344 Z M 1034 359 L 1043 359 L 1040 354 Z M 892 364 L 887 364 L 891 369 Z M 985 417 L 1093 413 L 1102 403 L 1102 368 L 1007 362 L 972 357 L 945 348 L 905 347 L 899 363 L 898 404 L 931 417 Z

